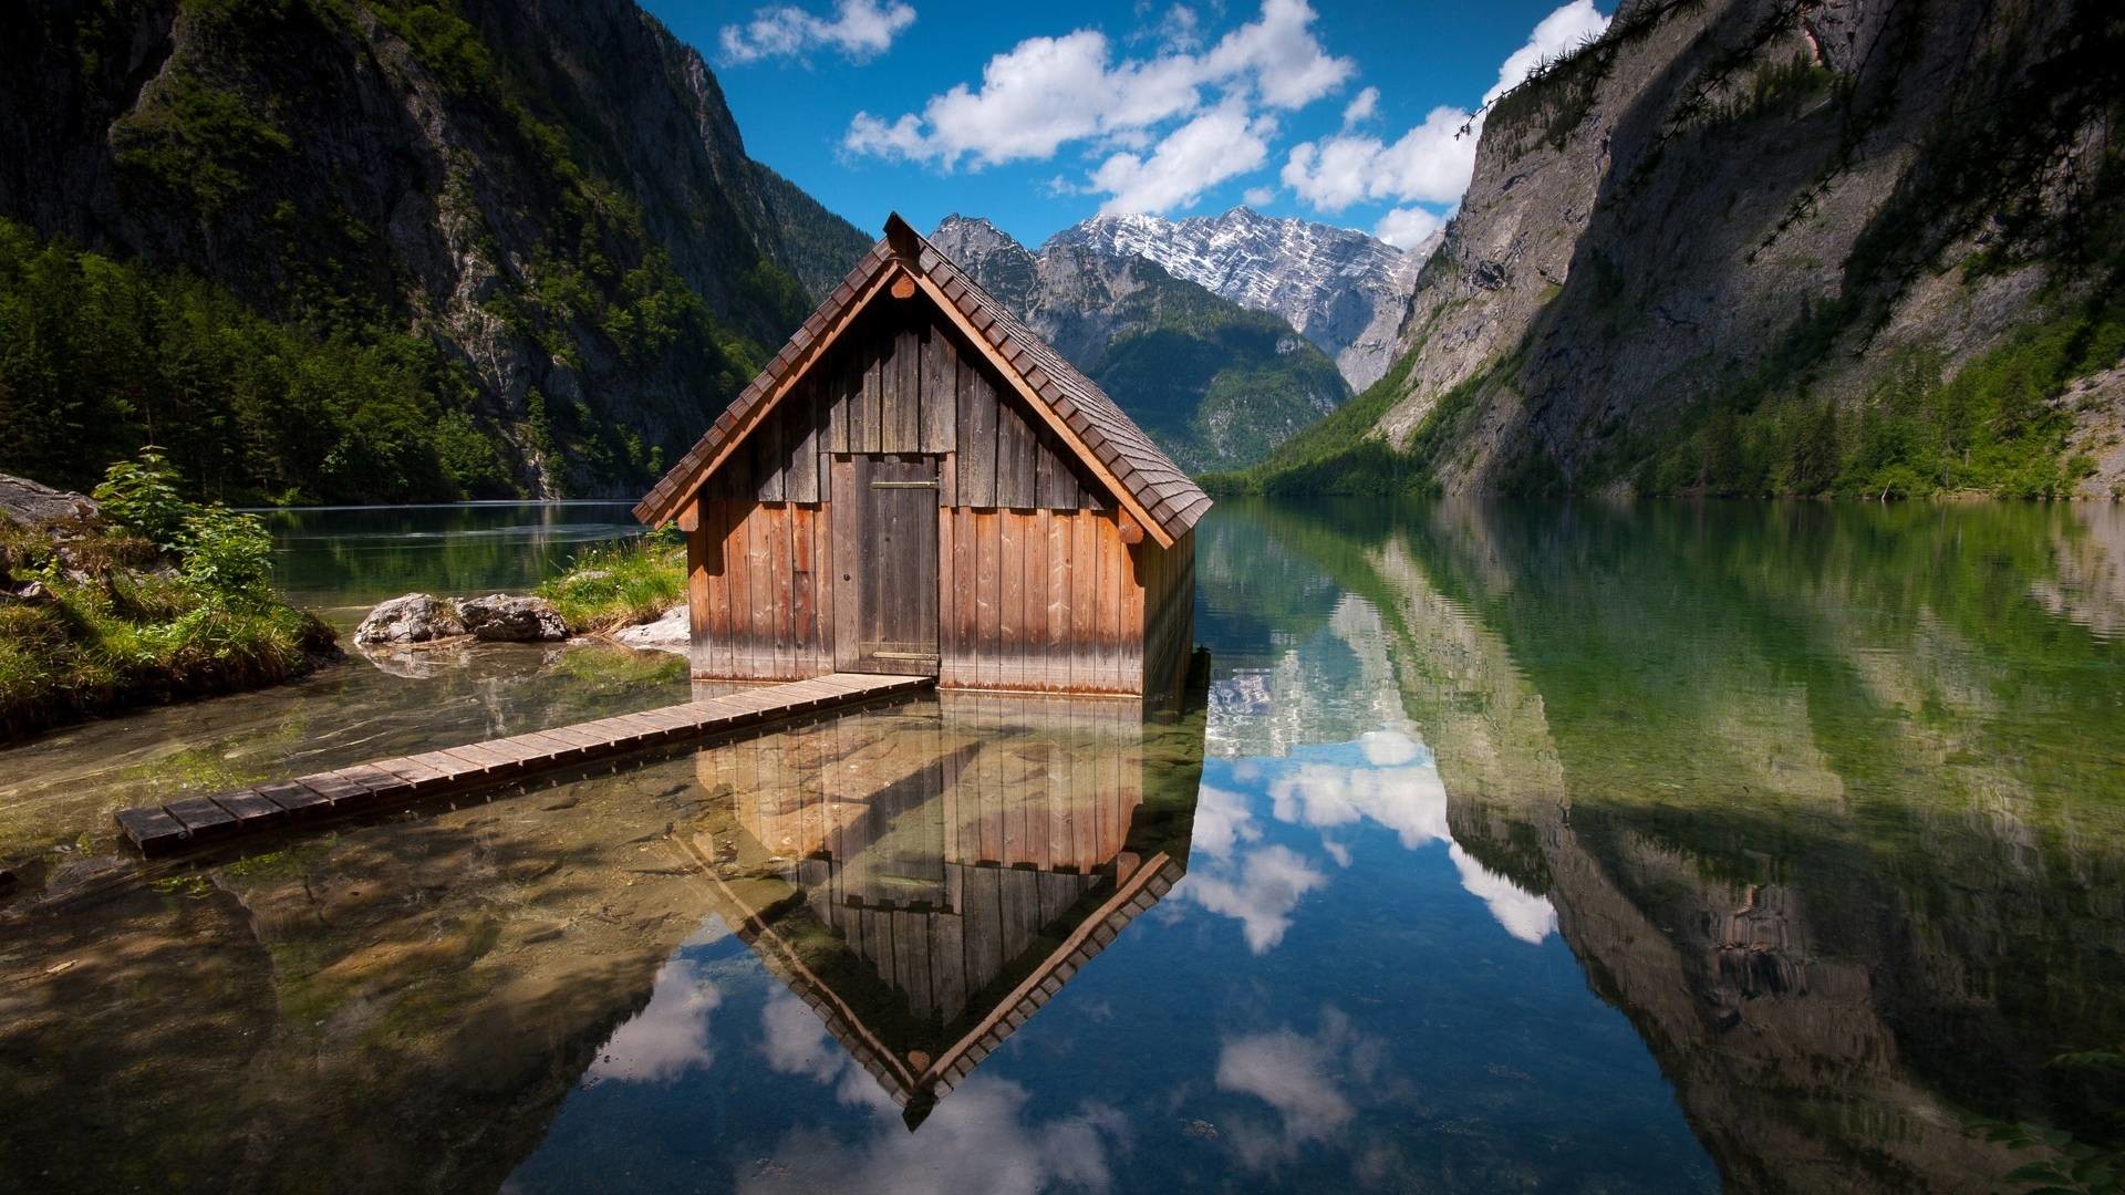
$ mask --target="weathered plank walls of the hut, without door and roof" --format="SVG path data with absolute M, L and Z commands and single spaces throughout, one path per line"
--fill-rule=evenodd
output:
M 839 578 L 873 536 L 861 495 L 837 489 L 861 489 L 865 461 L 918 455 L 937 459 L 939 685 L 1162 693 L 1194 632 L 1192 534 L 1124 544 L 1114 495 L 931 315 L 863 313 L 708 476 L 688 536 L 693 674 L 858 668 L 856 585 Z

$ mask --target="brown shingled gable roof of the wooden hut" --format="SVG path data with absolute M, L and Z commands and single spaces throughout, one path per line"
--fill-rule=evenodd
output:
M 1099 389 L 1099 383 L 1077 372 L 1060 353 L 1048 347 L 1001 302 L 978 287 L 958 264 L 937 251 L 899 215 L 886 219 L 886 236 L 856 262 L 827 302 L 803 321 L 774 361 L 716 417 L 701 440 L 686 451 L 635 504 L 635 519 L 665 523 L 693 495 L 729 447 L 742 440 L 774 404 L 790 389 L 803 370 L 848 327 L 890 279 L 912 276 L 918 287 L 939 300 L 948 317 L 988 349 L 1005 378 L 1039 408 L 1054 415 L 1060 440 L 1088 468 L 1114 483 L 1116 498 L 1162 542 L 1188 534 L 1209 510 L 1209 495 L 1188 481 L 1150 436 Z

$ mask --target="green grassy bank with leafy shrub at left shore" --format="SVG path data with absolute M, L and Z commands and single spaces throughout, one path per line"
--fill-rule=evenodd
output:
M 157 493 L 128 504 L 123 487 L 98 489 L 115 498 L 104 517 L 60 523 L 0 515 L 0 742 L 274 685 L 336 653 L 332 629 L 266 583 L 257 519 L 166 502 L 159 466 L 121 470 Z

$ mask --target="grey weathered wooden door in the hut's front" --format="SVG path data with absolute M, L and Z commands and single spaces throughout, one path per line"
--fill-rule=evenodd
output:
M 852 464 L 856 644 L 844 668 L 937 676 L 937 457 Z

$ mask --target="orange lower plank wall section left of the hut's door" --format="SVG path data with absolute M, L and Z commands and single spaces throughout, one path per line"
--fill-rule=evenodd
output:
M 803 680 L 833 672 L 831 506 L 699 502 L 699 527 L 686 536 L 693 674 Z

